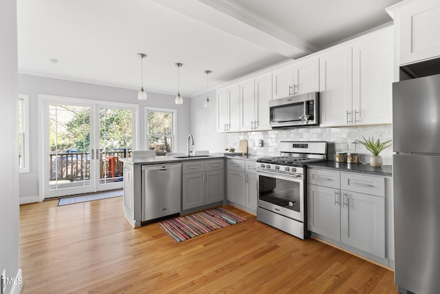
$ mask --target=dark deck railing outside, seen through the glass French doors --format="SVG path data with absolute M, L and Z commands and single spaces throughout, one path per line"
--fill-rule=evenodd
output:
M 100 160 L 100 178 L 108 176 L 108 160 L 109 156 L 118 158 L 131 157 L 131 150 L 111 150 L 101 151 L 99 153 Z M 90 159 L 89 153 L 82 152 L 50 152 L 50 180 L 76 180 L 90 179 Z M 113 176 L 123 176 L 122 162 L 118 160 L 119 174 Z M 105 169 L 103 168 L 106 165 Z

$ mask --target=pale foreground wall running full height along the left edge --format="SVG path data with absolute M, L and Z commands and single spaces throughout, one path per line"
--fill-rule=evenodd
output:
M 19 271 L 19 167 L 17 149 L 17 1 L 0 1 L 0 273 Z M 10 293 L 12 285 L 6 286 Z

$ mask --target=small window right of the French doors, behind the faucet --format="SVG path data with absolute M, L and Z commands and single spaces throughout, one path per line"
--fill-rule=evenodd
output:
M 157 155 L 173 152 L 175 147 L 175 109 L 146 107 L 146 145 Z

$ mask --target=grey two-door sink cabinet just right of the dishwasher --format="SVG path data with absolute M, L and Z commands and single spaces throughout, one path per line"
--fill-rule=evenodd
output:
M 182 209 L 224 199 L 224 164 L 220 160 L 194 160 L 182 165 Z

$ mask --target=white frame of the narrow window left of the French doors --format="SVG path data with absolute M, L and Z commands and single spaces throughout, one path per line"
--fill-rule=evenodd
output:
M 29 131 L 29 95 L 28 94 L 19 94 L 17 97 L 17 116 L 19 111 L 19 101 L 22 101 L 21 104 L 21 132 L 19 132 L 19 126 L 17 125 L 17 133 L 19 138 L 21 138 L 21 154 L 23 155 L 22 165 L 19 166 L 20 173 L 29 173 L 30 172 L 30 131 Z M 19 118 L 19 117 L 17 117 Z M 18 123 L 18 122 L 17 122 Z M 17 146 L 18 148 L 19 146 Z

